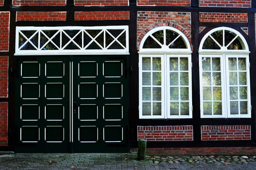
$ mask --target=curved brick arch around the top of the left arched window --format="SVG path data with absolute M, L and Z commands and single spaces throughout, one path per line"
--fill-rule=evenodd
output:
M 190 45 L 190 48 L 191 50 L 193 50 L 193 47 L 192 47 L 192 42 L 191 42 L 191 34 L 189 34 L 188 31 L 186 31 L 182 26 L 178 25 L 178 24 L 173 24 L 173 23 L 155 23 L 151 26 L 148 26 L 147 28 L 144 29 L 144 31 L 142 31 L 138 37 L 137 37 L 137 50 L 139 51 L 140 50 L 140 45 L 141 45 L 141 41 L 143 40 L 143 37 L 145 37 L 145 35 L 151 31 L 152 29 L 154 28 L 157 28 L 157 27 L 160 27 L 160 26 L 169 26 L 169 27 L 172 27 L 172 28 L 176 28 L 178 29 L 179 31 L 181 31 L 185 36 L 186 38 L 189 40 L 189 45 Z

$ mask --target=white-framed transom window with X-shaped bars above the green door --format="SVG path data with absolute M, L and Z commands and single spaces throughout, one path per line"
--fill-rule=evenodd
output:
M 129 54 L 128 26 L 16 27 L 15 55 Z

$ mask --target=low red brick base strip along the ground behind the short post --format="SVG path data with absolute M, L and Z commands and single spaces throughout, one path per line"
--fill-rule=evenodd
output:
M 137 148 L 131 148 L 137 151 Z M 147 148 L 147 155 L 255 155 L 256 147 L 170 147 Z

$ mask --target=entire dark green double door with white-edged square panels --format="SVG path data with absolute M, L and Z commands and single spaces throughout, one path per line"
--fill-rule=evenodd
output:
M 125 57 L 17 57 L 15 152 L 128 152 Z

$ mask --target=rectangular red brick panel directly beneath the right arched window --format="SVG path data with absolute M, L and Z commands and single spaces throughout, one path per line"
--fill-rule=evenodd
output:
M 201 126 L 202 141 L 250 140 L 250 125 Z

